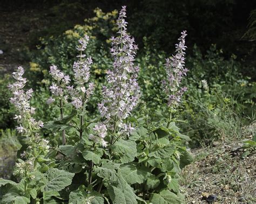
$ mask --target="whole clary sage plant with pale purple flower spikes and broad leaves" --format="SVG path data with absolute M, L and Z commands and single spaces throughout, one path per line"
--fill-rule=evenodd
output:
M 24 69 L 13 73 L 11 102 L 17 109 L 17 131 L 23 137 L 14 175 L 16 181 L 0 179 L 1 203 L 183 203 L 179 189 L 180 168 L 190 154 L 183 143 L 173 111 L 186 88 L 185 36 L 181 32 L 176 54 L 166 60 L 166 107 L 159 119 L 133 115 L 140 103 L 134 64 L 137 45 L 127 33 L 126 7 L 117 19 L 118 36 L 110 49 L 113 68 L 106 72 L 107 86 L 98 104 L 99 117 L 87 121 L 86 104 L 95 85 L 90 82 L 92 59 L 84 51 L 89 37 L 79 40 L 73 76 L 50 67 L 52 96 L 46 101 L 59 110 L 53 121 L 32 118 L 32 89 L 25 90 Z M 46 135 L 62 138 L 54 146 Z

